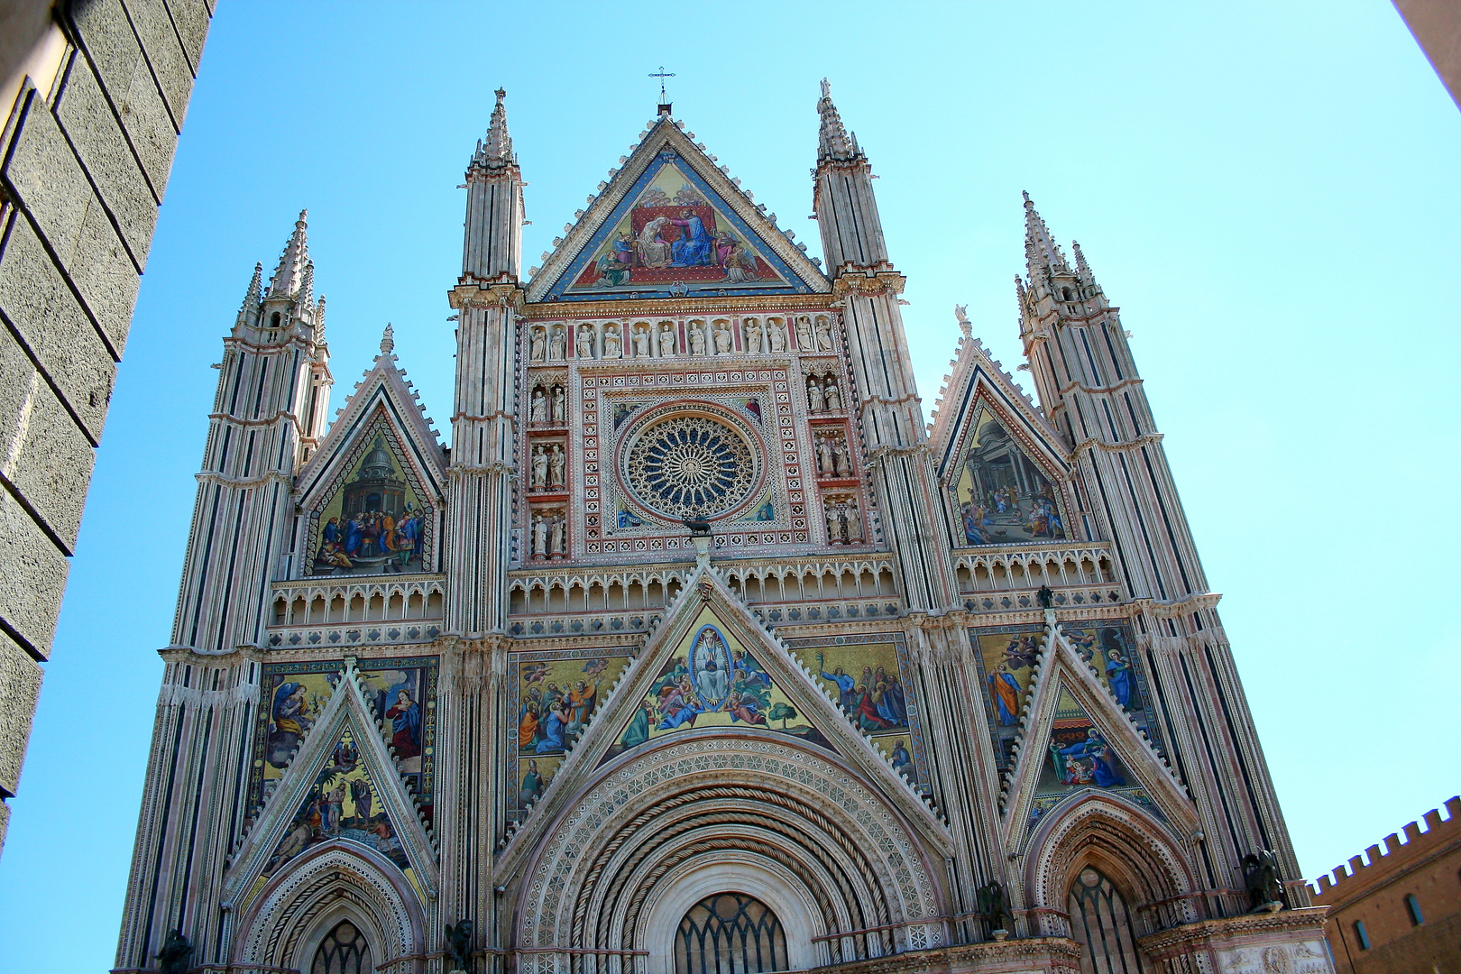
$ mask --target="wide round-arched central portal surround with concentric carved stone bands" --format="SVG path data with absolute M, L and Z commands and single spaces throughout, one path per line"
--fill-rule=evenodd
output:
M 944 942 L 934 862 L 891 805 L 811 748 L 691 732 L 605 765 L 562 806 L 523 870 L 514 939 L 649 951 L 649 974 L 672 974 L 687 911 L 730 892 L 785 924 L 792 970 L 885 956 Z M 523 964 L 555 970 L 551 954 Z

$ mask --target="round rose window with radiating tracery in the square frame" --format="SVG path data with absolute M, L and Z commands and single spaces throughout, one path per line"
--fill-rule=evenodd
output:
M 755 453 L 730 423 L 704 415 L 650 421 L 625 440 L 621 476 L 640 504 L 671 520 L 719 517 L 747 501 Z

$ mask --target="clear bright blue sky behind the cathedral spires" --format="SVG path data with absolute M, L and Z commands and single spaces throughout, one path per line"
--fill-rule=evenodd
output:
M 234 0 L 10 803 L 0 970 L 111 965 L 209 364 L 254 261 L 272 269 L 308 207 L 335 406 L 392 321 L 446 431 L 456 187 L 492 89 L 530 183 L 532 266 L 652 118 L 660 64 L 675 114 L 814 254 L 831 79 L 880 175 L 926 410 L 955 302 L 1020 362 L 1020 191 L 1081 242 L 1135 336 L 1306 876 L 1457 793 L 1461 112 L 1388 3 Z

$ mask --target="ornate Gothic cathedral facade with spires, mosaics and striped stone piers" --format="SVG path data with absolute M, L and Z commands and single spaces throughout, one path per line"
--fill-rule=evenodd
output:
M 450 447 L 256 269 L 117 970 L 1332 970 L 1118 310 L 1026 197 L 926 423 L 818 114 L 825 267 L 662 105 L 524 276 L 497 92 Z

